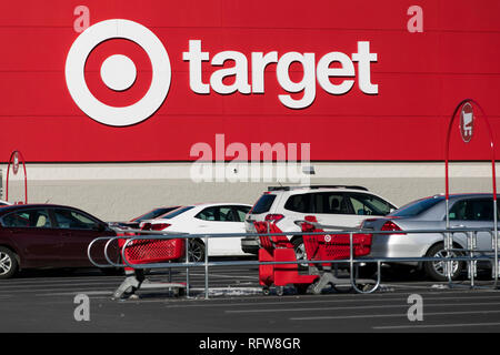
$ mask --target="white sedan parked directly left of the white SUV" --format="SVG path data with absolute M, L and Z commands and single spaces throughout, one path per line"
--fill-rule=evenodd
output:
M 244 216 L 252 206 L 241 203 L 203 203 L 179 207 L 160 219 L 142 221 L 141 229 L 189 234 L 244 233 Z M 242 237 L 209 239 L 209 256 L 249 255 L 241 250 Z M 206 245 L 202 239 L 191 239 L 191 261 L 203 261 Z

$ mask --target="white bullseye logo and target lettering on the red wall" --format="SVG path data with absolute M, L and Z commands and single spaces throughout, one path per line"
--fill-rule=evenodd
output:
M 152 68 L 151 84 L 146 94 L 126 106 L 114 106 L 97 99 L 86 82 L 86 62 L 92 50 L 110 39 L 126 39 L 140 45 L 147 53 Z M 358 87 L 364 94 L 378 94 L 378 84 L 371 81 L 371 64 L 377 62 L 377 53 L 370 52 L 369 41 L 358 41 L 358 51 L 348 55 L 343 52 L 329 52 L 317 62 L 314 53 L 287 52 L 279 57 L 278 51 L 251 52 L 250 58 L 238 51 L 221 51 L 212 57 L 203 51 L 201 40 L 189 40 L 189 51 L 182 53 L 182 60 L 189 63 L 189 87 L 198 94 L 211 91 L 227 94 L 262 94 L 266 91 L 266 68 L 277 64 L 277 80 L 281 89 L 290 94 L 279 94 L 279 101 L 289 109 L 306 109 L 316 99 L 317 81 L 329 94 L 342 95 L 354 85 L 358 64 Z M 178 53 L 176 53 L 178 54 Z M 179 58 L 176 55 L 174 58 Z M 209 82 L 202 80 L 203 63 L 223 67 L 233 62 L 231 68 L 218 69 L 210 75 Z M 290 78 L 290 68 L 298 63 L 303 71 L 300 81 Z M 334 64 L 333 68 L 331 65 Z M 251 75 L 251 84 L 249 78 Z M 137 124 L 151 116 L 166 100 L 172 72 L 169 54 L 160 39 L 144 26 L 123 19 L 98 22 L 84 30 L 72 43 L 66 61 L 66 82 L 77 105 L 93 120 L 112 126 Z M 116 92 L 127 94 L 137 80 L 133 61 L 123 54 L 108 57 L 101 65 L 102 82 Z M 233 78 L 232 83 L 228 79 Z M 340 78 L 340 82 L 331 79 Z M 302 93 L 300 98 L 292 95 Z

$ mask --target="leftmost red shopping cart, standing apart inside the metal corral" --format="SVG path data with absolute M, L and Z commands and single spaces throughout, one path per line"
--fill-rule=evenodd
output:
M 128 239 L 118 240 L 122 255 L 131 265 L 146 265 L 154 263 L 168 263 L 181 258 L 184 255 L 184 239 L 147 240 L 137 239 L 127 243 Z M 146 278 L 143 268 L 126 266 L 126 280 L 114 291 L 114 298 L 130 297 L 139 290 L 164 290 L 179 296 L 184 293 L 186 283 L 173 283 L 169 268 L 169 282 L 151 282 Z

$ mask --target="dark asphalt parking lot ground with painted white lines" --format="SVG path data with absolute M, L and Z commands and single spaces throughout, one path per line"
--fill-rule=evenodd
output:
M 190 297 L 166 291 L 141 292 L 139 298 L 111 300 L 123 276 L 97 270 L 30 271 L 2 280 L 0 332 L 167 332 L 167 333 L 332 333 L 332 332 L 496 332 L 500 294 L 492 290 L 449 290 L 418 274 L 386 273 L 370 295 L 323 293 L 263 296 L 256 267 L 210 268 L 210 297 L 204 300 L 203 270 L 190 271 Z M 184 281 L 184 270 L 173 272 Z M 164 280 L 153 274 L 150 278 Z M 480 283 L 489 283 L 482 275 Z M 403 281 L 404 280 L 404 281 Z M 467 284 L 466 281 L 462 282 Z M 89 321 L 77 322 L 78 294 L 89 296 Z M 422 297 L 422 321 L 410 322 L 408 297 Z

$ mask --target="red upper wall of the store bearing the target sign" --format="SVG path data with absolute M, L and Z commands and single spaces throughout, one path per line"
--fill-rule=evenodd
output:
M 191 162 L 223 134 L 311 161 L 442 161 L 464 98 L 500 131 L 498 0 L 4 2 L 3 156 Z M 453 159 L 489 159 L 469 118 Z

